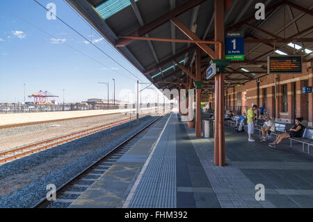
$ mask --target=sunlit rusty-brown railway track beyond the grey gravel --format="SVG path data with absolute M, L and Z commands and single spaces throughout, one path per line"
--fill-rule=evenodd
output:
M 140 117 L 143 117 L 143 116 L 140 116 Z M 24 145 L 20 148 L 8 150 L 6 152 L 0 152 L 0 164 L 3 164 L 7 161 L 12 161 L 12 160 L 17 159 L 19 157 L 24 157 L 26 155 L 33 154 L 35 152 L 40 152 L 42 150 L 52 148 L 52 147 L 54 147 L 56 145 L 60 145 L 62 143 L 67 143 L 69 141 L 73 141 L 73 140 L 75 140 L 77 138 L 81 138 L 83 136 L 95 134 L 97 132 L 103 131 L 105 129 L 109 129 L 111 127 L 115 127 L 117 125 L 121 125 L 125 122 L 129 122 L 129 121 L 134 120 L 134 119 L 136 119 L 136 117 L 125 118 L 125 119 L 120 120 L 118 122 L 100 125 L 98 127 L 93 127 L 90 129 L 83 129 L 79 132 L 74 132 L 72 134 L 67 134 L 65 136 L 58 136 L 56 138 L 51 138 L 51 139 L 41 141 L 38 143 L 33 143 L 31 145 Z

